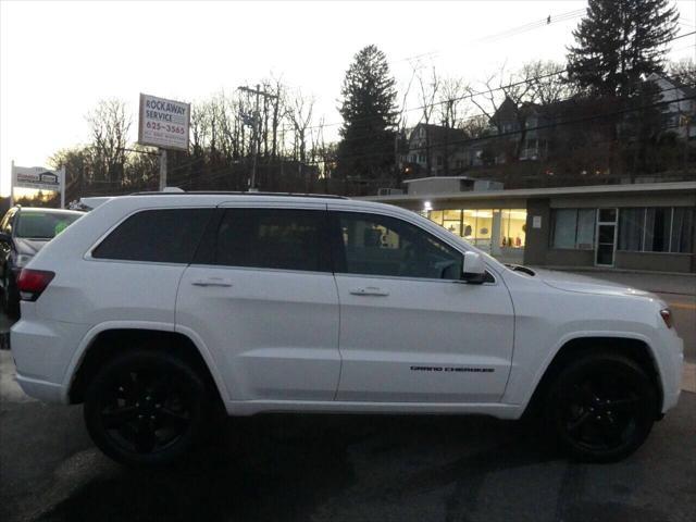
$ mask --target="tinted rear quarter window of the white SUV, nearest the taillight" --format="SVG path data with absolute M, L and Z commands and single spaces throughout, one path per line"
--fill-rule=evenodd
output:
M 92 250 L 92 258 L 190 263 L 212 209 L 145 210 Z

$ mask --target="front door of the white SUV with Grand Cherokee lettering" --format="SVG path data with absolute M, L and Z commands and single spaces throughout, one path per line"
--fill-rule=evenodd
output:
M 462 252 L 415 223 L 332 214 L 343 359 L 337 400 L 498 401 L 513 341 L 504 284 L 463 284 Z

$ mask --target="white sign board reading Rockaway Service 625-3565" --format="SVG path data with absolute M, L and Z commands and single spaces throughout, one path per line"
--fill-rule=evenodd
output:
M 138 142 L 187 150 L 190 113 L 190 103 L 141 94 Z

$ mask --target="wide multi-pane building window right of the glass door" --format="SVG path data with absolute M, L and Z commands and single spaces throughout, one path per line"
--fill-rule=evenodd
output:
M 621 209 L 619 250 L 687 253 L 694 249 L 694 209 L 650 207 Z

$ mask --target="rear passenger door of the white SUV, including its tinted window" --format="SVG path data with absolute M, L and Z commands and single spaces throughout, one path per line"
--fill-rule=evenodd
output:
M 211 350 L 233 400 L 333 400 L 338 295 L 326 206 L 223 204 L 179 285 L 176 327 Z

